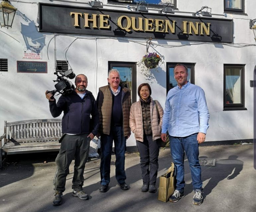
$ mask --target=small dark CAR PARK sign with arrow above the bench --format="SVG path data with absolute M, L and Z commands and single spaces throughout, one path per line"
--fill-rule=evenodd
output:
M 47 62 L 17 61 L 17 72 L 47 73 Z

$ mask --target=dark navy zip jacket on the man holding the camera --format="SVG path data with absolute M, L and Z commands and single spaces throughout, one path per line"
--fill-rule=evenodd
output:
M 90 91 L 86 90 L 86 95 L 83 99 L 73 91 L 71 94 L 61 95 L 57 104 L 54 99 L 49 101 L 51 115 L 58 117 L 62 111 L 62 133 L 84 134 L 93 133 L 97 135 L 99 128 L 99 111 L 95 98 Z M 92 121 L 90 121 L 90 115 Z M 90 126 L 90 122 L 91 125 Z

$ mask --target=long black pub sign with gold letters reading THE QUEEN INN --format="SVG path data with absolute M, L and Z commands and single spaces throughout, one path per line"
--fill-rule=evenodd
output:
M 39 31 L 233 42 L 233 20 L 39 3 Z

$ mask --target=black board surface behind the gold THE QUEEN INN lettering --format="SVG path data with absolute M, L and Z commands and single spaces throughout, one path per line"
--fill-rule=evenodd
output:
M 71 12 L 82 14 L 82 16 L 77 16 L 78 26 L 75 25 L 75 15 L 70 15 Z M 109 15 L 108 23 L 104 23 L 104 26 L 109 25 L 109 29 L 99 29 L 93 27 L 92 21 L 89 21 L 89 27 L 84 27 L 85 15 L 89 14 L 88 19 L 92 19 L 91 14 L 97 14 L 97 23 L 99 23 L 98 16 Z M 143 27 L 145 28 L 145 20 L 166 20 L 173 24 L 175 21 L 175 33 L 172 32 L 148 32 L 143 30 L 134 31 L 132 28 L 128 32 L 121 29 L 118 26 L 118 18 L 120 16 L 134 17 L 136 20 L 136 26 L 138 26 L 138 19 L 142 18 L 144 20 Z M 201 27 L 201 32 L 197 34 L 184 34 L 184 25 L 186 22 L 187 27 L 190 25 L 196 26 L 196 23 L 200 25 L 208 26 L 210 24 L 209 35 L 205 35 L 203 28 Z M 122 23 L 126 26 L 127 20 L 124 18 Z M 84 26 L 83 26 L 84 25 Z M 153 28 L 155 27 L 153 23 Z M 199 29 L 200 30 L 200 29 Z M 57 4 L 47 4 L 39 3 L 39 32 L 46 33 L 61 33 L 61 34 L 80 34 L 80 35 L 97 35 L 97 36 L 119 36 L 119 37 L 138 37 L 138 38 L 156 38 L 156 39 L 170 39 L 170 40 L 191 40 L 191 41 L 205 41 L 205 42 L 233 42 L 233 20 L 232 19 L 218 19 L 218 18 L 205 18 L 205 17 L 195 17 L 195 16 L 179 16 L 179 15 L 167 15 L 167 14 L 157 14 L 157 13 L 141 13 L 141 12 L 131 12 L 122 10 L 109 10 L 102 8 L 89 8 L 89 7 L 76 7 L 67 5 L 57 5 Z M 191 31 L 193 32 L 193 31 Z

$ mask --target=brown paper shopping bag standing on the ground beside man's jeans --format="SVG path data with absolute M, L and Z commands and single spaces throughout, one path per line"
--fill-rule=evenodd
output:
M 175 190 L 175 175 L 174 175 L 174 163 L 171 163 L 171 167 L 168 171 L 160 177 L 158 200 L 167 202 L 170 196 Z

